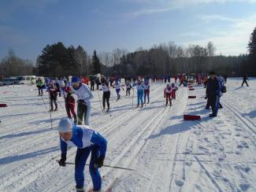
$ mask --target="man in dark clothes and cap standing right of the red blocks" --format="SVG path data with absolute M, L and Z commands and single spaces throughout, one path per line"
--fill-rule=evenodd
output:
M 221 97 L 221 87 L 215 72 L 210 72 L 210 79 L 208 79 L 206 87 L 206 96 L 213 112 L 209 116 L 217 116 Z

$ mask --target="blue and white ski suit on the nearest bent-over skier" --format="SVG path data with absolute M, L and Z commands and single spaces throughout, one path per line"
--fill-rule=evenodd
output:
M 91 161 L 89 171 L 94 186 L 94 190 L 101 190 L 102 179 L 98 172 L 98 168 L 95 168 L 95 163 L 98 157 L 106 157 L 106 138 L 98 134 L 97 131 L 91 129 L 88 126 L 76 127 L 73 124 L 72 138 L 70 141 L 65 141 L 60 138 L 61 141 L 61 158 L 66 157 L 68 146 L 77 147 L 76 160 L 75 160 L 75 179 L 76 186 L 82 188 L 84 185 L 84 167 L 89 154 L 91 153 Z

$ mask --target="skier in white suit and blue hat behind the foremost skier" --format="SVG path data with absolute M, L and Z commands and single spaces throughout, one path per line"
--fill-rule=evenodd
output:
M 87 87 L 87 84 L 81 83 L 78 76 L 72 76 L 72 86 L 69 85 L 70 89 L 78 97 L 77 102 L 77 124 L 82 124 L 84 116 L 84 124 L 89 125 L 89 117 L 91 114 L 91 102 L 93 94 Z

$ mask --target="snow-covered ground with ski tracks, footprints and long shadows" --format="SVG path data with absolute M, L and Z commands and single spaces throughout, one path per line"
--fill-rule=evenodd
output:
M 154 83 L 146 108 L 132 109 L 132 97 L 111 98 L 111 116 L 96 110 L 95 91 L 91 126 L 108 138 L 105 163 L 135 169 L 102 168 L 103 191 L 113 180 L 113 191 L 256 191 L 256 79 L 250 87 L 240 83 L 228 79 L 228 92 L 221 98 L 224 109 L 214 119 L 204 109 L 201 86 L 180 87 L 170 108 L 163 98 L 165 84 Z M 43 100 L 49 108 L 47 95 Z M 43 100 L 35 87 L 0 87 L 0 103 L 8 105 L 0 108 L 0 191 L 74 191 L 74 166 L 56 163 L 56 126 L 65 109 L 52 113 L 51 129 Z M 184 113 L 202 120 L 184 121 Z M 67 161 L 73 162 L 75 153 L 70 149 Z M 89 190 L 88 168 L 85 172 Z

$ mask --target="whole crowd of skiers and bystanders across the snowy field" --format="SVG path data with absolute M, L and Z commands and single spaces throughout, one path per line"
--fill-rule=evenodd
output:
M 171 106 L 173 99 L 176 99 L 178 86 L 184 85 L 184 87 L 187 87 L 187 84 L 191 82 L 200 85 L 203 83 L 204 87 L 206 87 L 206 109 L 212 109 L 212 113 L 209 116 L 213 117 L 217 116 L 218 109 L 222 108 L 220 98 L 221 95 L 226 92 L 224 83 L 227 82 L 227 76 L 217 76 L 215 72 L 210 72 L 210 74 L 199 74 L 197 76 L 178 74 L 174 76 L 173 83 L 171 83 L 170 76 L 127 77 L 125 78 L 125 84 L 123 85 L 121 84 L 121 77 L 118 76 L 109 78 L 97 77 L 90 80 L 91 88 L 89 88 L 89 82 L 80 79 L 78 76 L 73 76 L 70 81 L 65 78 L 56 80 L 45 79 L 45 82 L 43 82 L 43 79 L 38 79 L 37 87 L 39 89 L 39 96 L 43 96 L 43 89 L 46 89 L 46 92 L 49 93 L 50 112 L 58 110 L 58 96 L 63 97 L 65 100 L 65 109 L 68 118 L 61 119 L 58 125 L 61 142 L 61 159 L 58 163 L 60 166 L 65 166 L 67 146 L 71 145 L 77 147 L 75 161 L 77 191 L 84 191 L 83 170 L 89 153 L 91 153 L 89 171 L 93 181 L 94 190 L 100 190 L 102 187 L 102 179 L 98 172 L 98 168 L 103 166 L 106 157 L 107 142 L 106 138 L 91 127 L 88 127 L 91 115 L 91 99 L 93 98 L 91 91 L 95 90 L 95 84 L 97 90 L 103 92 L 102 111 L 106 110 L 105 112 L 107 113 L 110 109 L 109 98 L 111 95 L 113 96 L 110 92 L 111 87 L 116 91 L 117 96 L 115 98 L 117 98 L 117 101 L 121 98 L 121 90 L 124 90 L 124 88 L 126 89 L 125 95 L 127 97 L 131 96 L 132 90 L 132 103 L 134 90 L 136 90 L 136 107 L 140 106 L 143 108 L 143 105 L 150 103 L 150 82 L 166 83 L 164 89 L 166 106 Z M 247 84 L 247 76 L 243 77 L 243 83 Z M 77 114 L 75 111 L 75 94 L 77 98 Z M 83 122 L 84 125 L 82 125 Z

